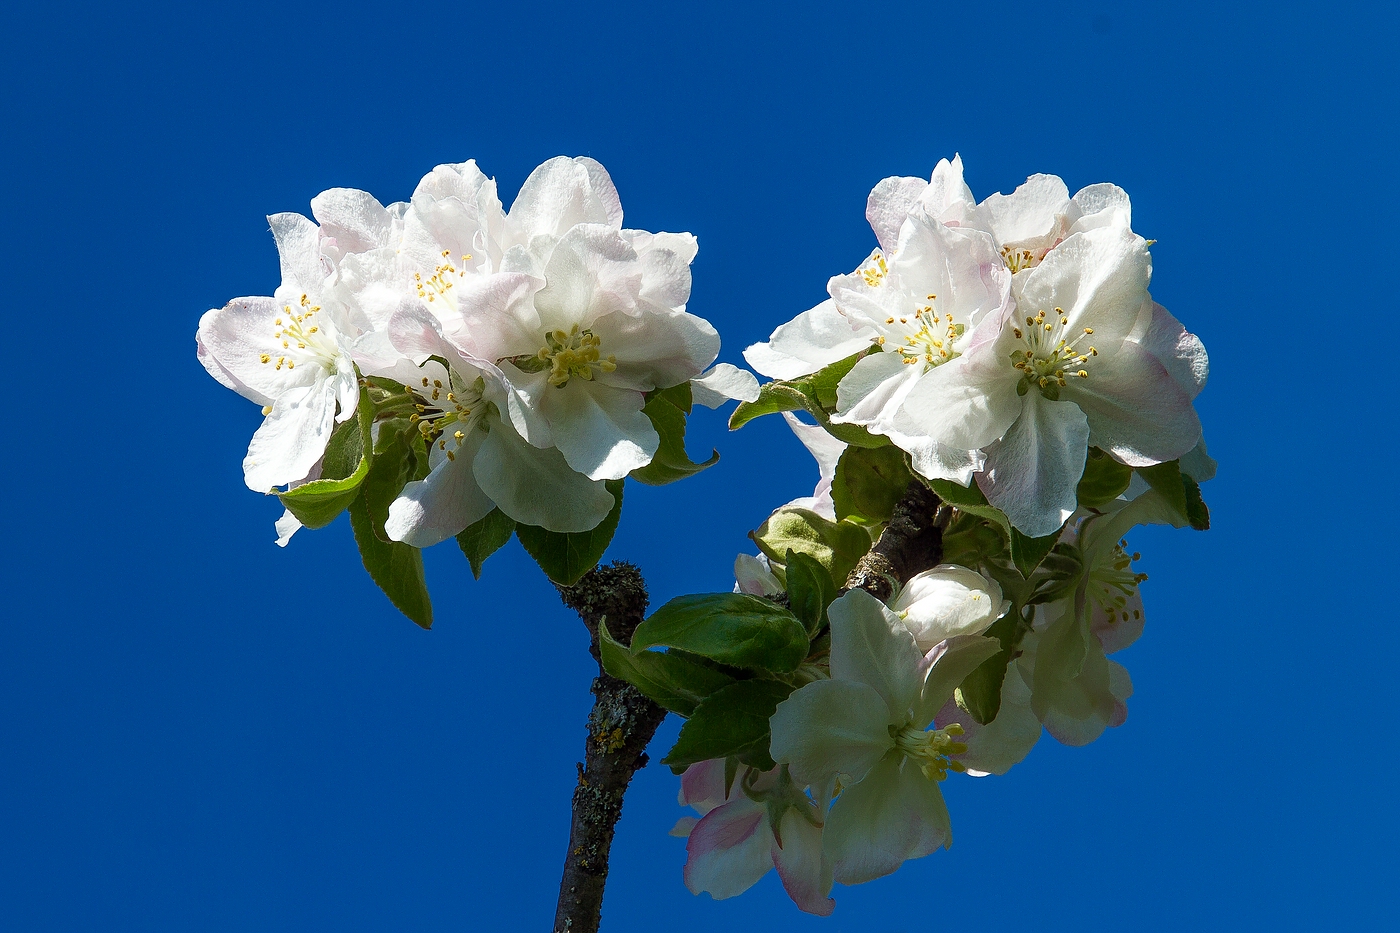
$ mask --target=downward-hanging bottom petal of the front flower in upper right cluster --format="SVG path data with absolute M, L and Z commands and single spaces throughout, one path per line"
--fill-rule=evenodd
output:
M 1022 534 L 1049 535 L 1075 510 L 1088 451 L 1089 423 L 1079 406 L 1030 389 L 1021 417 L 987 448 L 977 485 Z

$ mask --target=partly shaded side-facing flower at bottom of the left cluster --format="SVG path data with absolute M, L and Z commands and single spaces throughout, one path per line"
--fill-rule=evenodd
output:
M 389 338 L 409 359 L 377 371 L 413 392 L 417 426 L 430 444 L 431 472 L 389 506 L 388 535 L 426 548 L 496 506 L 549 531 L 596 527 L 613 507 L 612 493 L 573 471 L 557 450 L 526 444 L 501 417 L 508 389 L 500 370 L 463 354 L 437 328 L 426 312 L 396 314 Z

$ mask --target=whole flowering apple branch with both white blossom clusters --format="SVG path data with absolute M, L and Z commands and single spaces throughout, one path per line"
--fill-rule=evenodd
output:
M 312 213 L 270 219 L 281 286 L 209 311 L 199 359 L 263 406 L 244 475 L 284 503 L 279 544 L 349 510 L 420 625 L 419 549 L 447 538 L 476 576 L 514 537 L 554 583 L 580 580 L 624 478 L 717 461 L 686 454 L 694 402 L 738 401 L 731 429 L 781 413 L 816 459 L 812 495 L 750 534 L 734 591 L 634 630 L 589 622 L 617 686 L 685 720 L 664 762 L 696 814 L 672 831 L 692 891 L 776 869 L 830 913 L 834 884 L 951 845 L 949 775 L 1126 721 L 1131 678 L 1109 656 L 1142 632 L 1147 579 L 1127 534 L 1208 528 L 1215 462 L 1194 408 L 1205 349 L 1152 300 L 1152 244 L 1117 186 L 1035 175 L 977 202 L 956 157 L 883 179 L 878 247 L 745 352 L 762 387 L 714 366 L 718 335 L 686 311 L 694 238 L 623 228 L 592 160 L 545 163 L 508 212 L 463 163 L 407 203 L 333 189 Z M 617 801 L 643 762 L 616 763 Z M 596 929 L 588 909 L 571 929 Z

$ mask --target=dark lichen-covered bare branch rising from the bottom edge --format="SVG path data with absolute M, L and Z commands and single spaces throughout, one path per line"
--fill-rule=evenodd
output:
M 594 709 L 588 714 L 584 761 L 578 762 L 554 933 L 596 933 L 622 799 L 631 776 L 645 766 L 644 749 L 666 710 L 633 685 L 606 674 L 598 653 L 601 621 L 608 621 L 609 635 L 630 644 L 633 632 L 647 615 L 647 584 L 641 572 L 616 560 L 589 570 L 571 587 L 559 587 L 559 595 L 588 626 L 592 636 L 588 650 L 599 667 L 592 685 Z

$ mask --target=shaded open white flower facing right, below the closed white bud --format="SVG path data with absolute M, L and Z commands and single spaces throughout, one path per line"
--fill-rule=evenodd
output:
M 862 590 L 832 602 L 832 679 L 783 700 L 773 756 L 813 787 L 840 779 L 823 846 L 833 877 L 860 884 L 952 841 L 938 782 L 962 751 L 951 731 L 925 731 L 962 679 L 997 651 L 962 635 L 927 654 L 897 615 Z

